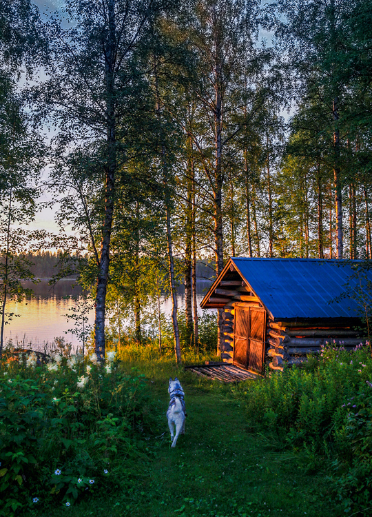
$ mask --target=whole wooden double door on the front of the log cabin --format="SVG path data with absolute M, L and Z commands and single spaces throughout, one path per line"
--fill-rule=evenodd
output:
M 234 364 L 262 372 L 265 354 L 266 311 L 261 307 L 235 307 Z

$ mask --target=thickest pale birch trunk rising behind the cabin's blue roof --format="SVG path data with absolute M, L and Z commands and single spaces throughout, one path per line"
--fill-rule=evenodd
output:
M 335 218 L 336 218 L 336 258 L 343 256 L 343 234 L 342 234 L 342 187 L 340 172 L 340 129 L 338 128 L 338 97 L 333 99 L 333 181 L 335 184 Z

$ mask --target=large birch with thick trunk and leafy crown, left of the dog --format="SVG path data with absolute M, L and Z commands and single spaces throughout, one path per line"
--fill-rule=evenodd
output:
M 50 42 L 49 78 L 42 88 L 34 89 L 35 96 L 45 117 L 54 117 L 59 125 L 59 156 L 72 146 L 88 146 L 96 150 L 95 173 L 101 176 L 100 242 L 94 253 L 94 342 L 99 361 L 105 356 L 105 300 L 116 185 L 125 174 L 130 128 L 141 105 L 143 74 L 136 50 L 149 36 L 162 7 L 154 0 L 66 0 L 64 19 L 54 17 L 45 26 Z

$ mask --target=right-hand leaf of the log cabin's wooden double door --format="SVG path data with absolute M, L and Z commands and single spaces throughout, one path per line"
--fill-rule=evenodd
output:
M 262 372 L 265 354 L 266 311 L 251 307 L 249 312 L 249 360 L 248 368 Z

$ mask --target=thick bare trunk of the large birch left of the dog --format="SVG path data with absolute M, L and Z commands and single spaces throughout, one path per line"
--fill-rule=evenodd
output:
M 101 256 L 96 285 L 96 314 L 94 320 L 94 352 L 99 361 L 105 359 L 105 307 L 107 279 L 110 266 L 110 243 L 114 219 L 115 173 L 116 173 L 116 116 L 115 116 L 115 0 L 107 1 L 108 39 L 105 48 L 105 93 L 106 93 L 106 143 L 105 166 L 105 216 L 103 221 Z

